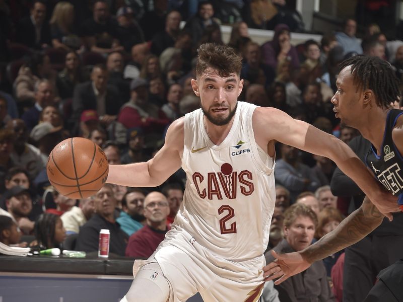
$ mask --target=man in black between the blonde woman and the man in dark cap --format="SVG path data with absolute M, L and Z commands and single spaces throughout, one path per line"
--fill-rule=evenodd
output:
M 116 38 L 117 24 L 110 17 L 109 7 L 105 1 L 94 3 L 93 17 L 83 22 L 80 36 L 87 49 L 100 54 L 123 51 Z

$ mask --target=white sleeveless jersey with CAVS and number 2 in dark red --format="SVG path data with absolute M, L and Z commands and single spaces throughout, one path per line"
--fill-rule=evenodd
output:
M 255 108 L 238 102 L 220 145 L 210 140 L 201 109 L 185 116 L 182 168 L 187 181 L 173 228 L 228 260 L 262 255 L 275 206 L 274 160 L 254 139 Z

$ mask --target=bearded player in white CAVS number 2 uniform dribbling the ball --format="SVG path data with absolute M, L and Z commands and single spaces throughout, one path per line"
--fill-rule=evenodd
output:
M 187 175 L 172 230 L 147 261 L 135 261 L 122 301 L 186 301 L 196 292 L 206 302 L 258 300 L 275 207 L 275 140 L 332 159 L 370 198 L 385 198 L 341 140 L 278 109 L 238 102 L 240 69 L 232 48 L 201 45 L 191 81 L 201 109 L 174 121 L 147 163 L 109 166 L 107 182 L 130 187 L 159 186 L 180 167 Z

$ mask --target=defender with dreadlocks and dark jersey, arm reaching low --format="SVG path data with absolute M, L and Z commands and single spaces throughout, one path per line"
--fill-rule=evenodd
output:
M 398 205 L 403 210 L 403 110 L 391 107 L 400 98 L 394 71 L 388 62 L 361 55 L 345 60 L 341 67 L 336 82 L 338 91 L 331 100 L 333 111 L 341 123 L 358 129 L 371 141 L 366 156 L 368 169 L 390 193 L 398 196 Z M 280 277 L 275 282 L 280 284 L 311 263 L 360 241 L 377 228 L 384 216 L 367 197 L 337 229 L 305 250 L 284 255 L 273 253 L 278 260 L 264 268 L 266 280 Z M 377 206 L 378 201 L 384 202 L 381 199 L 371 201 Z M 395 277 L 391 277 L 392 274 Z M 378 278 L 381 281 L 371 289 L 365 301 L 403 301 L 401 283 L 398 285 L 403 280 L 402 260 L 382 271 Z

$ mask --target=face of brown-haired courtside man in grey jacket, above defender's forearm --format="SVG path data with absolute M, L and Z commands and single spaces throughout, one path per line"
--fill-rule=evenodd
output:
M 284 237 L 295 251 L 309 247 L 315 234 L 315 224 L 307 216 L 298 216 L 289 226 L 284 226 Z

